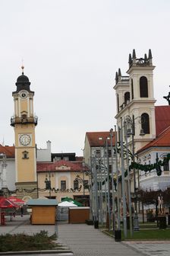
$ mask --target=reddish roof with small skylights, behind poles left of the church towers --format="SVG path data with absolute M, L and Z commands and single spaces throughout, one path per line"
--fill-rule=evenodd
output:
M 110 132 L 87 132 L 86 136 L 90 146 L 105 146 L 105 140 L 110 138 Z M 115 146 L 115 132 L 113 132 L 112 143 Z

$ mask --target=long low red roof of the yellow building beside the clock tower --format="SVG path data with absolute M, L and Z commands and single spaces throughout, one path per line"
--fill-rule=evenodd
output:
M 41 163 L 36 164 L 36 171 L 86 171 L 87 168 L 83 167 L 82 162 L 71 162 L 61 160 L 52 163 Z

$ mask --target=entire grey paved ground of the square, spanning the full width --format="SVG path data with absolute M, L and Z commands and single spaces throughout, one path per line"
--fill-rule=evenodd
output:
M 52 235 L 57 232 L 58 242 L 67 245 L 74 252 L 74 256 L 170 255 L 170 241 L 115 242 L 114 238 L 103 234 L 99 229 L 94 229 L 93 226 L 65 222 L 58 222 L 57 224 L 57 226 L 30 225 L 29 216 L 16 216 L 12 221 L 7 216 L 6 225 L 0 226 L 0 234 L 18 232 L 33 234 L 45 230 L 49 235 Z

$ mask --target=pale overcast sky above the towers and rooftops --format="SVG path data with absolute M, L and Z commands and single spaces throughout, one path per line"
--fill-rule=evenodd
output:
M 115 125 L 115 72 L 128 55 L 153 53 L 156 105 L 170 85 L 169 0 L 0 0 L 0 143 L 12 146 L 12 91 L 21 74 L 35 91 L 38 148 L 83 155 L 86 132 Z

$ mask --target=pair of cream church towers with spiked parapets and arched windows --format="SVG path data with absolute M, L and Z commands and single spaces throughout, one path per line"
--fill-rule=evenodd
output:
M 128 76 L 122 76 L 118 69 L 115 75 L 117 98 L 116 119 L 118 126 L 122 120 L 131 117 L 134 122 L 135 151 L 156 138 L 155 98 L 153 95 L 153 56 L 137 58 L 135 50 L 129 54 Z M 143 133 L 141 133 L 143 131 Z M 143 134 L 143 136 L 141 136 Z

